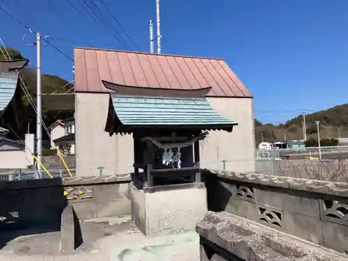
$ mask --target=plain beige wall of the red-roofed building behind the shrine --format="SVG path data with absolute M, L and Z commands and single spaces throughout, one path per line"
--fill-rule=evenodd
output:
M 230 171 L 255 170 L 253 100 L 250 98 L 209 98 L 219 113 L 239 125 L 232 133 L 209 132 L 201 145 L 203 168 L 222 169 L 227 160 Z M 75 155 L 77 175 L 95 175 L 103 166 L 106 175 L 133 171 L 132 135 L 112 136 L 104 132 L 109 94 L 76 93 Z

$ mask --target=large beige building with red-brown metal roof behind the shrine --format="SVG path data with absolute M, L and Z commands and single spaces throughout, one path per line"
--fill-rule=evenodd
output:
M 253 97 L 222 59 L 74 49 L 77 175 L 134 171 L 132 135 L 104 131 L 110 90 L 102 81 L 141 88 L 212 87 L 207 101 L 222 116 L 237 122 L 232 133 L 209 132 L 200 147 L 202 168 L 255 171 Z M 225 164 L 223 163 L 225 161 Z

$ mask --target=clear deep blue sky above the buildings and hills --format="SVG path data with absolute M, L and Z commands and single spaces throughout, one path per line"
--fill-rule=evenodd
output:
M 6 0 L 1 6 L 72 57 L 74 46 L 124 49 L 84 12 L 92 0 Z M 94 0 L 115 29 L 118 24 Z M 141 51 L 148 52 L 148 21 L 155 0 L 104 0 Z M 161 0 L 162 53 L 224 58 L 254 96 L 255 117 L 279 123 L 301 111 L 347 102 L 347 0 Z M 97 19 L 97 18 L 95 18 Z M 98 21 L 98 20 L 97 20 Z M 35 65 L 27 30 L 0 12 L 0 37 Z M 128 48 L 134 49 L 125 34 Z M 27 35 L 26 41 L 35 38 Z M 90 45 L 80 42 L 90 42 Z M 72 80 L 72 61 L 49 46 L 42 70 Z

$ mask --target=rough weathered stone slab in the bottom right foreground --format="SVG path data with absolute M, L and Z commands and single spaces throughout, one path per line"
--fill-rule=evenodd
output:
M 202 261 L 269 261 L 269 260 L 346 260 L 326 248 L 306 243 L 276 232 L 257 223 L 239 218 L 226 212 L 208 212 L 197 223 L 196 231 L 200 235 L 200 258 Z M 208 246 L 208 247 L 207 247 Z

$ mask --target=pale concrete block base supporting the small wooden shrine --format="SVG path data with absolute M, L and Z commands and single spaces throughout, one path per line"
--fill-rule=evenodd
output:
M 131 184 L 132 221 L 145 235 L 194 231 L 207 213 L 204 186 L 144 192 Z

